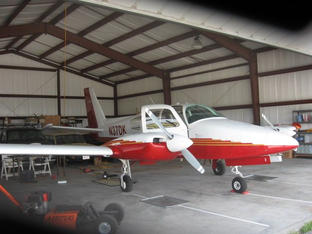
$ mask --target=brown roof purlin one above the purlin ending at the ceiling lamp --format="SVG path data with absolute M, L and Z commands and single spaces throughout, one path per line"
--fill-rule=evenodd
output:
M 137 29 L 135 29 L 135 30 L 133 30 L 133 31 L 131 31 L 131 32 L 129 32 L 129 33 L 126 33 L 126 34 L 124 34 L 124 35 L 121 35 L 120 37 L 117 37 L 117 38 L 115 38 L 115 39 L 112 39 L 112 40 L 110 40 L 110 41 L 107 41 L 107 42 L 105 42 L 105 43 L 102 44 L 102 45 L 105 46 L 105 47 L 110 47 L 110 46 L 112 46 L 112 45 L 114 45 L 114 44 L 117 44 L 117 43 L 123 41 L 123 40 L 132 38 L 132 37 L 134 37 L 134 36 L 137 36 L 137 35 L 139 35 L 139 34 L 141 34 L 141 33 L 146 32 L 146 31 L 148 31 L 148 30 L 151 30 L 151 29 L 153 29 L 153 28 L 156 28 L 156 27 L 158 27 L 158 26 L 160 26 L 160 25 L 162 25 L 162 24 L 164 24 L 164 23 L 166 23 L 166 22 L 157 21 L 157 20 L 156 20 L 156 21 L 153 21 L 153 22 L 148 23 L 148 24 L 146 24 L 146 25 L 144 25 L 144 26 L 142 26 L 142 27 L 140 27 L 140 28 L 137 28 Z M 84 53 L 82 53 L 82 54 L 80 54 L 80 55 L 78 55 L 78 56 L 76 56 L 76 57 L 73 57 L 73 58 L 71 58 L 71 59 L 66 60 L 66 65 L 69 64 L 69 63 L 75 62 L 75 61 L 77 61 L 77 60 L 79 60 L 79 59 L 82 59 L 82 58 L 84 58 L 84 57 L 86 57 L 86 56 L 92 55 L 92 54 L 94 54 L 94 52 L 92 52 L 92 51 L 86 51 L 86 52 L 84 52 Z M 64 66 L 64 64 L 65 64 L 65 62 L 61 63 L 61 66 Z

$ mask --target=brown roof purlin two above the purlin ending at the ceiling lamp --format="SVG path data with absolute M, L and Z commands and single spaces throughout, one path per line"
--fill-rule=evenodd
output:
M 86 29 L 80 31 L 77 35 L 83 37 L 83 36 L 87 35 L 88 33 L 96 30 L 97 28 L 103 26 L 104 24 L 109 23 L 112 20 L 115 20 L 116 18 L 118 18 L 118 17 L 120 17 L 122 15 L 123 15 L 123 13 L 115 12 L 115 13 L 105 17 L 104 19 L 99 20 L 98 22 L 92 24 L 91 26 L 87 27 Z M 55 47 L 51 48 L 50 50 L 48 50 L 48 51 L 44 52 L 43 54 L 41 54 L 39 56 L 39 58 L 43 59 L 43 58 L 51 55 L 52 53 L 56 52 L 57 50 L 63 48 L 65 43 L 66 42 L 59 43 L 57 46 L 55 46 Z M 68 44 L 68 43 L 66 43 L 66 44 Z

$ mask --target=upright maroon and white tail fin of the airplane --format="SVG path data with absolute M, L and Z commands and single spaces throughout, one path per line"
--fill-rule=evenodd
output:
M 86 102 L 89 128 L 99 128 L 106 124 L 106 117 L 98 103 L 98 98 L 92 88 L 85 88 L 84 99 Z

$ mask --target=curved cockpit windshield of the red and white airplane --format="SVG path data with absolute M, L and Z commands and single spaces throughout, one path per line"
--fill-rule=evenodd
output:
M 224 117 L 215 109 L 198 104 L 187 106 L 185 109 L 185 115 L 189 124 L 203 118 Z

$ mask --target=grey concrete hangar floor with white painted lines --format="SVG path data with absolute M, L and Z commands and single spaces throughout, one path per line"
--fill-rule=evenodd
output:
M 117 234 L 288 234 L 312 219 L 311 163 L 312 158 L 285 158 L 281 163 L 240 168 L 244 176 L 278 177 L 273 181 L 248 179 L 248 195 L 230 192 L 234 174 L 229 168 L 224 176 L 215 176 L 208 164 L 201 175 L 179 159 L 152 166 L 135 163 L 131 172 L 137 183 L 130 193 L 121 192 L 119 186 L 92 182 L 97 175 L 78 169 L 86 167 L 87 162 L 67 166 L 66 184 L 58 184 L 51 176 L 38 176 L 36 184 L 21 184 L 12 177 L 0 183 L 20 201 L 33 191 L 52 192 L 50 209 L 57 204 L 78 205 L 89 200 L 103 210 L 107 204 L 118 202 L 125 217 Z M 120 175 L 119 162 L 102 165 L 113 166 L 102 171 Z M 52 171 L 56 174 L 56 167 Z M 158 195 L 190 202 L 163 208 L 140 201 Z M 0 205 L 2 215 L 13 209 L 3 194 Z

